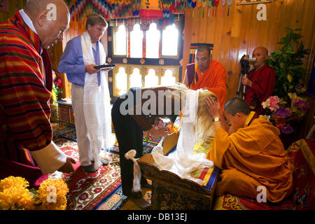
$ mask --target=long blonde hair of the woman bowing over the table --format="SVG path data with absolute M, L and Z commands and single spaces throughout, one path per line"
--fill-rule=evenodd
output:
M 214 136 L 214 126 L 212 116 L 207 110 L 206 102 L 208 97 L 213 97 L 217 100 L 216 94 L 209 90 L 198 90 L 198 110 L 195 120 L 194 130 L 196 140 L 202 142 L 207 138 Z

